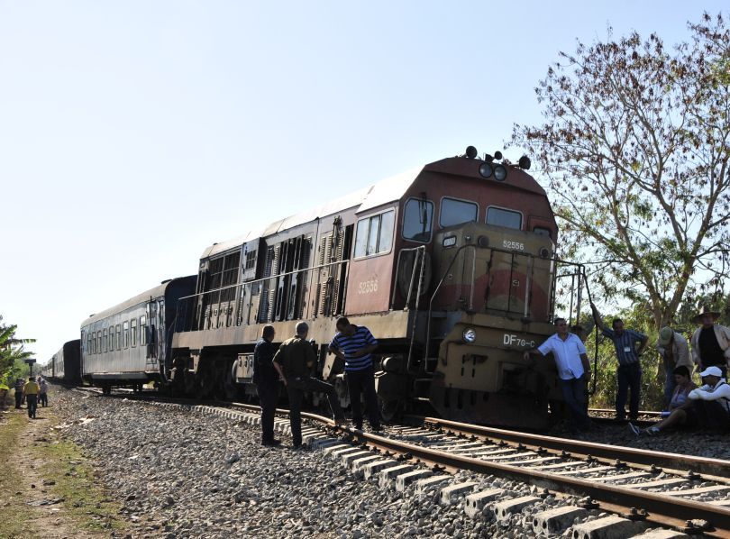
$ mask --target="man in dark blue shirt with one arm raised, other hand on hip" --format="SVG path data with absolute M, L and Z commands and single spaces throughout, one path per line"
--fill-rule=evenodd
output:
M 642 388 L 642 364 L 639 357 L 642 355 L 646 343 L 649 342 L 649 337 L 631 329 L 624 329 L 624 321 L 621 318 L 614 318 L 611 324 L 613 329 L 608 329 L 603 323 L 598 308 L 592 303 L 590 308 L 601 332 L 613 341 L 616 348 L 616 360 L 618 361 L 618 370 L 616 370 L 616 381 L 618 382 L 616 421 L 624 421 L 626 418 L 625 407 L 629 390 L 631 390 L 629 419 L 635 421 L 639 416 L 639 397 Z M 639 343 L 638 349 L 636 343 Z

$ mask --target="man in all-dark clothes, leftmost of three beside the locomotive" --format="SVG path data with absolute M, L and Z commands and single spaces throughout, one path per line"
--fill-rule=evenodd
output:
M 253 383 L 259 393 L 261 405 L 261 443 L 278 445 L 274 439 L 274 412 L 278 400 L 278 372 L 274 369 L 274 354 L 277 345 L 273 343 L 276 331 L 273 325 L 265 325 L 256 348 L 253 349 Z

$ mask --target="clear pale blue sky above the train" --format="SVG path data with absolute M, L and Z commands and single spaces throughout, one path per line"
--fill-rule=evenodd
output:
M 671 44 L 723 8 L 0 0 L 0 315 L 45 362 L 213 242 L 501 149 L 540 122 L 534 87 L 577 39 Z

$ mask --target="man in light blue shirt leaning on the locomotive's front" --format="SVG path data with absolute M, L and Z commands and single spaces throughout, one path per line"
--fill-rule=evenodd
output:
M 586 347 L 577 335 L 568 332 L 565 318 L 555 318 L 555 329 L 557 333 L 548 337 L 540 346 L 525 351 L 525 361 L 530 359 L 531 354 L 545 356 L 552 352 L 558 368 L 562 397 L 570 409 L 573 428 L 589 430 L 591 423 L 586 407 L 586 389 L 590 364 Z

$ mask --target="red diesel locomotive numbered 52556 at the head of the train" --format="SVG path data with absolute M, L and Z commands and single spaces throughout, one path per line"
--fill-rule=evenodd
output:
M 167 378 L 198 397 L 253 395 L 262 325 L 283 340 L 306 320 L 317 372 L 347 404 L 342 365 L 326 352 L 347 315 L 379 340 L 384 416 L 426 406 L 547 426 L 561 411 L 557 373 L 523 352 L 554 333 L 559 297 L 579 316 L 583 271 L 556 258 L 558 228 L 529 160 L 500 160 L 470 147 L 210 246 L 195 294 L 178 303 Z

